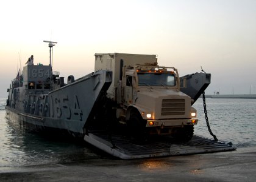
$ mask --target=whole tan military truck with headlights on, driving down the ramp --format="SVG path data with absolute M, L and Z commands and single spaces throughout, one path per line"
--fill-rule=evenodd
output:
M 95 72 L 111 70 L 108 103 L 119 124 L 125 124 L 132 137 L 172 135 L 179 140 L 192 138 L 197 113 L 193 99 L 180 88 L 174 67 L 158 66 L 157 55 L 96 53 Z M 186 83 L 185 77 L 181 78 Z M 107 106 L 110 107 L 110 106 Z

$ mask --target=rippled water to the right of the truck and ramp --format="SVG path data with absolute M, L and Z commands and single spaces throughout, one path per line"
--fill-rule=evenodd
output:
M 207 115 L 218 140 L 231 141 L 236 147 L 256 146 L 256 99 L 206 99 Z M 205 122 L 202 98 L 193 105 L 199 123 L 195 133 L 211 138 Z

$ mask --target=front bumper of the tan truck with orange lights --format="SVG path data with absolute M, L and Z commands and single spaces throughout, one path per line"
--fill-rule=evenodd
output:
M 176 127 L 197 124 L 197 118 L 177 120 L 148 120 L 146 127 Z

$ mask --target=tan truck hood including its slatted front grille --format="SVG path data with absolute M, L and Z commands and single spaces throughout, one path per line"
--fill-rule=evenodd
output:
M 151 113 L 153 120 L 188 118 L 190 117 L 191 98 L 176 90 L 143 88 L 137 90 L 133 106 L 137 107 L 141 113 Z

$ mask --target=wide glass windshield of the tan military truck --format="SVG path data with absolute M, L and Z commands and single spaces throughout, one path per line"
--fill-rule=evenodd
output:
M 175 86 L 172 73 L 138 73 L 138 86 Z

